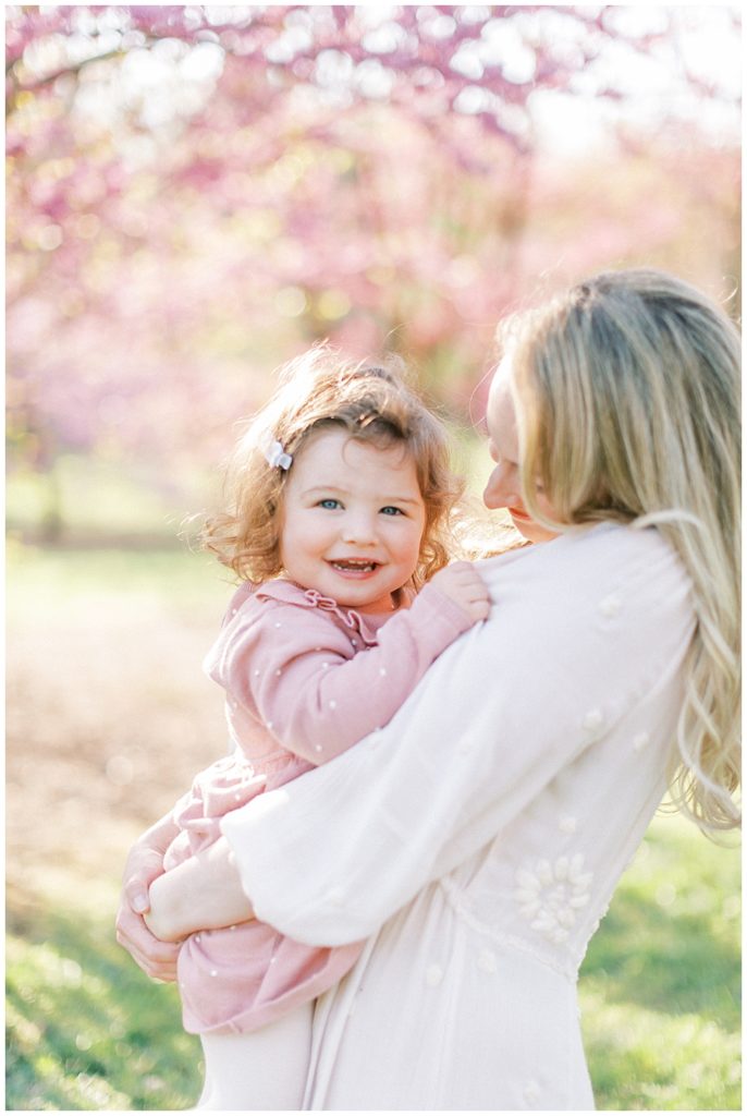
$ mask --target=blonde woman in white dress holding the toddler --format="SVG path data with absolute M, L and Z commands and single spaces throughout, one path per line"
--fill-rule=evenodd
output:
M 704 828 L 738 824 L 738 335 L 622 271 L 504 340 L 485 502 L 543 545 L 481 566 L 491 618 L 387 729 L 151 888 L 163 939 L 253 911 L 368 937 L 318 1002 L 305 1107 L 593 1107 L 575 982 L 621 872 L 668 786 Z M 174 946 L 130 902 L 166 828 L 130 854 L 119 922 L 162 977 Z

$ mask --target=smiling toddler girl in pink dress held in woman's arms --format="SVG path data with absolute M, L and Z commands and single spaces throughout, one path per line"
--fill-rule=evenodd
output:
M 177 802 L 166 870 L 213 844 L 227 811 L 386 724 L 489 609 L 474 567 L 447 565 L 459 487 L 446 433 L 394 362 L 352 366 L 329 347 L 292 362 L 236 448 L 226 494 L 205 542 L 243 584 L 205 667 L 226 693 L 233 752 Z M 201 1107 L 298 1108 L 313 1000 L 361 947 L 304 945 L 260 922 L 186 939 Z

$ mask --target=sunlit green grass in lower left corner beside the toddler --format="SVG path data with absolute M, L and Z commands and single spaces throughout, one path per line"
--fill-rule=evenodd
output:
M 12 1110 L 177 1109 L 200 1093 L 200 1042 L 174 987 L 149 981 L 104 914 L 33 896 L 7 943 L 7 1105 Z M 28 897 L 27 897 L 28 898 Z

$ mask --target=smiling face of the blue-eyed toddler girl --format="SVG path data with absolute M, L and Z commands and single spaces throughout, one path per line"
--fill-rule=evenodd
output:
M 312 436 L 285 482 L 280 557 L 289 578 L 360 613 L 392 608 L 418 565 L 426 510 L 411 455 L 343 430 Z

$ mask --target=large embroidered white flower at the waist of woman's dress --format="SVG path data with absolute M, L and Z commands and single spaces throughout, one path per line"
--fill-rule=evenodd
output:
M 532 930 L 560 945 L 575 925 L 578 912 L 589 903 L 593 873 L 583 870 L 583 854 L 559 856 L 554 864 L 537 860 L 534 870 L 520 868 L 514 897 Z

